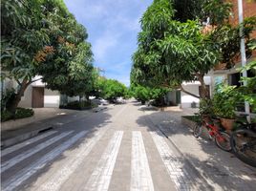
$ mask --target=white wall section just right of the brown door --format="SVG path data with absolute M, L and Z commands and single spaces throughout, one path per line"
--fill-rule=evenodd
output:
M 58 91 L 52 91 L 45 88 L 44 107 L 59 107 L 60 94 Z

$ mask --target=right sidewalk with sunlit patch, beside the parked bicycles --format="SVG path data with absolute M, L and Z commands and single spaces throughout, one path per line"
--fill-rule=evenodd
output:
M 195 112 L 195 109 L 169 108 L 145 113 L 215 190 L 255 190 L 256 168 L 222 151 L 211 140 L 194 138 L 192 131 L 181 124 L 181 116 Z

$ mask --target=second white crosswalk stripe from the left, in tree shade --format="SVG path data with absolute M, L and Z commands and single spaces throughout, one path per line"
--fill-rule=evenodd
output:
M 14 158 L 11 158 L 10 160 L 7 160 L 1 164 L 1 173 L 5 172 L 6 170 L 10 169 L 12 166 L 17 164 L 18 162 L 22 161 L 23 159 L 27 159 L 31 157 L 33 154 L 45 149 L 46 147 L 50 146 L 57 140 L 61 138 L 65 138 L 68 135 L 73 133 L 73 131 L 62 133 L 56 137 L 50 138 L 47 141 L 42 142 L 41 144 L 36 145 L 34 148 L 25 151 L 24 153 L 21 153 L 20 155 L 17 155 Z

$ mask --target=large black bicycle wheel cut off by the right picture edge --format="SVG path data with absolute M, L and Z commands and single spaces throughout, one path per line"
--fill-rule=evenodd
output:
M 231 135 L 234 155 L 245 163 L 256 167 L 256 134 L 250 130 L 237 130 Z

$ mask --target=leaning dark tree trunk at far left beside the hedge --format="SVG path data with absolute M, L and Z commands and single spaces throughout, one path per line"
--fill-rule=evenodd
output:
M 28 80 L 23 79 L 22 83 L 20 84 L 20 88 L 14 98 L 11 100 L 10 104 L 7 105 L 7 110 L 11 112 L 11 114 L 15 114 L 18 104 L 21 100 L 21 97 L 24 95 L 25 90 L 31 84 Z

